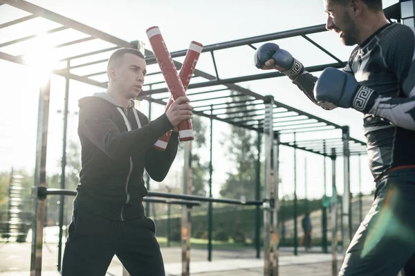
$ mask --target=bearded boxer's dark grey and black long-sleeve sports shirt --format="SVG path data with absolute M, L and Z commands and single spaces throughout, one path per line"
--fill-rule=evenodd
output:
M 377 94 L 363 119 L 374 178 L 415 168 L 415 30 L 400 23 L 383 26 L 353 50 L 343 70 Z M 318 106 L 336 108 L 315 100 L 315 81 L 304 70 L 293 83 Z

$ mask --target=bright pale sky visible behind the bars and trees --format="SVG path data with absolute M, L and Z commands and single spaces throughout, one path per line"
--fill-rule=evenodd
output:
M 65 17 L 79 21 L 126 41 L 140 40 L 145 47 L 151 50 L 145 30 L 151 26 L 158 26 L 163 34 L 169 51 L 184 50 L 190 41 L 199 41 L 203 45 L 232 41 L 269 34 L 284 30 L 315 26 L 326 22 L 322 0 L 146 0 L 146 1 L 103 1 L 103 0 L 34 0 L 29 1 Z M 396 3 L 394 0 L 383 1 L 384 7 Z M 0 24 L 27 14 L 9 6 L 0 6 Z M 35 19 L 34 19 L 35 20 Z M 21 25 L 21 24 L 19 24 Z M 38 21 L 28 23 L 19 28 L 4 28 L 0 30 L 0 43 L 39 33 L 41 30 L 55 28 L 55 25 Z M 77 39 L 78 34 L 66 32 L 65 36 Z M 66 37 L 66 39 L 68 38 Z M 324 48 L 342 60 L 347 60 L 352 50 L 343 46 L 337 34 L 324 32 L 310 36 Z M 65 37 L 60 37 L 65 39 Z M 291 54 L 302 61 L 305 66 L 331 63 L 333 59 L 327 57 L 315 47 L 302 39 L 282 39 L 277 41 L 281 48 L 289 50 Z M 256 44 L 259 46 L 261 43 Z M 93 41 L 91 44 L 93 45 Z M 26 51 L 28 52 L 22 52 Z M 46 49 L 48 51 L 49 49 Z M 84 49 L 77 49 L 84 51 Z M 50 52 L 39 52 L 38 48 L 22 46 L 21 48 L 5 47 L 0 51 L 11 55 L 28 54 L 28 57 L 39 65 L 39 57 L 50 57 Z M 253 75 L 260 73 L 253 66 L 253 50 L 248 46 L 230 48 L 215 52 L 219 76 L 222 79 Z M 62 54 L 62 52 L 61 52 Z M 183 58 L 176 59 L 183 61 Z M 43 66 L 45 59 L 40 62 Z M 102 69 L 104 64 L 95 66 L 95 70 Z M 152 68 L 155 68 L 154 66 Z M 209 53 L 203 53 L 196 67 L 214 75 L 214 66 Z M 151 68 L 149 68 L 151 71 Z M 154 69 L 153 69 L 154 70 Z M 95 71 L 94 71 L 95 72 Z M 87 72 L 77 73 L 80 75 Z M 318 73 L 315 73 L 318 76 Z M 37 132 L 37 107 L 39 101 L 39 85 L 42 83 L 39 68 L 28 68 L 8 61 L 0 61 L 0 171 L 13 168 L 33 170 L 35 165 L 35 145 Z M 97 79 L 105 81 L 105 79 Z M 146 79 L 151 81 L 151 78 Z M 195 80 L 197 81 L 197 80 Z M 191 82 L 192 83 L 192 82 Z M 265 79 L 239 83 L 250 88 L 260 95 L 273 95 L 276 101 L 304 110 L 312 115 L 332 121 L 339 125 L 348 125 L 351 137 L 365 141 L 362 128 L 362 115 L 354 110 L 336 109 L 322 110 L 297 89 L 285 77 Z M 62 133 L 64 108 L 65 82 L 62 77 L 53 75 L 51 80 L 50 118 L 48 135 L 47 172 L 49 174 L 60 171 L 59 159 L 62 157 Z M 68 117 L 68 141 L 77 140 L 77 100 L 81 97 L 102 92 L 96 88 L 77 81 L 71 81 Z M 148 104 L 142 102 L 140 109 L 148 115 Z M 151 118 L 155 119 L 164 111 L 163 106 L 152 106 Z M 220 185 L 226 177 L 226 172 L 232 170 L 232 164 L 223 156 L 221 141 L 229 133 L 229 126 L 214 121 L 214 195 L 218 195 Z M 314 134 L 317 137 L 319 134 Z M 324 135 L 324 134 L 320 134 Z M 340 137 L 340 136 L 337 136 Z M 301 138 L 301 137 L 299 137 Z M 203 160 L 208 160 L 208 151 L 200 150 Z M 293 194 L 293 149 L 281 147 L 280 171 L 282 177 L 281 193 Z M 323 158 L 308 152 L 297 150 L 297 195 L 304 197 L 321 197 L 324 193 Z M 326 159 L 326 183 L 331 185 L 331 161 Z M 305 165 L 306 163 L 306 165 Z M 358 157 L 351 157 L 351 191 L 358 193 L 359 183 L 362 191 L 369 193 L 374 189 L 373 178 L 367 166 L 367 156 L 360 157 L 361 181 L 359 181 Z M 161 184 L 152 184 L 152 187 L 172 185 L 172 179 L 180 184 L 181 166 L 183 158 L 177 157 L 167 181 Z M 342 191 L 342 159 L 337 162 L 338 190 Z M 306 167 L 306 170 L 305 170 Z M 307 186 L 304 189 L 304 186 Z M 327 193 L 331 193 L 328 188 Z

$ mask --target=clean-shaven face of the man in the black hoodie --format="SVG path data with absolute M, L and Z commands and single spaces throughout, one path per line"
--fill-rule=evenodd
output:
M 117 66 L 116 82 L 118 90 L 127 99 L 138 97 L 147 74 L 145 60 L 133 54 L 125 54 L 124 60 Z

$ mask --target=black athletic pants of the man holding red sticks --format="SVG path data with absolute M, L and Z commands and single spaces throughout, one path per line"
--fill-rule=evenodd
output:
M 131 276 L 165 276 L 155 230 L 154 221 L 147 217 L 112 221 L 75 208 L 62 276 L 104 276 L 114 255 Z

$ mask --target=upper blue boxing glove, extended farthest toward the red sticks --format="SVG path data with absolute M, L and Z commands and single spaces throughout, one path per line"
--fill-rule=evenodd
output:
M 255 51 L 254 63 L 257 68 L 263 68 L 266 61 L 273 59 L 275 66 L 284 68 L 281 70 L 290 79 L 296 79 L 304 71 L 304 66 L 284 49 L 275 43 L 265 43 Z

